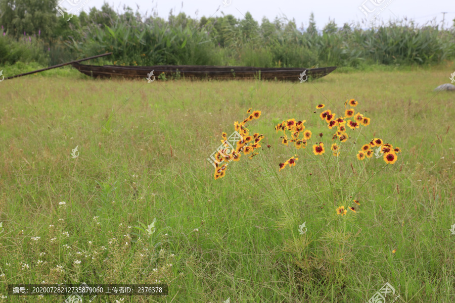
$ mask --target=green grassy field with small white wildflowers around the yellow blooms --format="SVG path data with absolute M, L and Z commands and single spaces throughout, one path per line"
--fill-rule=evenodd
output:
M 169 285 L 166 297 L 93 302 L 364 303 L 386 282 L 399 295 L 387 303 L 453 302 L 455 94 L 433 88 L 454 69 L 305 83 L 3 81 L 0 302 L 66 298 L 5 297 L 7 284 L 81 282 Z M 334 129 L 315 107 L 339 117 L 350 98 L 371 124 L 348 128 L 333 157 Z M 215 180 L 206 159 L 249 108 L 261 111 L 248 128 L 262 148 Z M 312 131 L 306 149 L 281 144 L 274 127 L 291 118 Z M 357 160 L 373 138 L 401 148 L 396 163 Z M 353 199 L 356 213 L 337 215 Z

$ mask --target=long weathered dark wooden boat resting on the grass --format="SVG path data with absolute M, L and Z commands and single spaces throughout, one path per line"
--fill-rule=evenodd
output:
M 124 78 L 147 78 L 153 71 L 153 75 L 164 74 L 166 78 L 180 75 L 185 78 L 197 79 L 262 79 L 262 80 L 290 80 L 299 81 L 300 74 L 306 70 L 308 78 L 321 78 L 334 71 L 337 67 L 322 68 L 260 68 L 244 66 L 208 66 L 208 65 L 155 65 L 155 66 L 117 66 L 117 65 L 84 65 L 73 62 L 71 65 L 79 72 L 100 78 L 124 77 Z M 306 79 L 305 76 L 302 77 Z

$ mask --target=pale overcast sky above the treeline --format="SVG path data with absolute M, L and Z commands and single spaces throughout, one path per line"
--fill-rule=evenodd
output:
M 104 0 L 63 0 L 62 7 L 71 8 L 71 5 L 67 3 L 70 1 L 73 3 L 81 1 L 80 4 L 88 1 L 84 7 L 85 11 L 94 6 L 100 9 L 105 2 Z M 445 27 L 450 27 L 453 24 L 452 20 L 455 19 L 454 0 L 108 0 L 107 3 L 119 12 L 123 12 L 124 5 L 136 11 L 136 5 L 138 5 L 141 14 L 145 15 L 148 12 L 148 16 L 150 16 L 151 12 L 155 11 L 158 16 L 166 20 L 171 9 L 174 15 L 184 12 L 193 18 L 222 16 L 221 13 L 243 18 L 246 12 L 250 12 L 259 24 L 264 16 L 270 21 L 277 16 L 286 16 L 290 20 L 295 19 L 298 28 L 302 23 L 304 28 L 308 26 L 309 15 L 312 12 L 318 29 L 322 29 L 328 23 L 329 18 L 335 19 L 339 27 L 345 22 L 361 23 L 362 20 L 365 22 L 368 20 L 370 24 L 370 20 L 375 16 L 379 22 L 387 22 L 390 19 L 402 20 L 403 17 L 407 17 L 414 19 L 419 24 L 436 18 L 436 22 L 442 25 L 442 12 L 447 12 Z M 77 9 L 78 6 L 75 8 Z M 376 21 L 376 24 L 379 22 Z

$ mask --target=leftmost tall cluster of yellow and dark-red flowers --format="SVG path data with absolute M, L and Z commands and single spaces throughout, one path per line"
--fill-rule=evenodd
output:
M 247 123 L 251 120 L 259 119 L 261 112 L 253 111 L 251 113 L 251 109 L 249 109 L 247 111 L 247 114 L 249 114 L 248 118 L 242 122 L 234 122 L 234 128 L 239 134 L 236 146 L 230 145 L 228 141 L 228 135 L 225 132 L 223 132 L 221 135 L 222 145 L 215 154 L 215 180 L 224 177 L 226 175 L 228 164 L 231 161 L 240 161 L 242 153 L 244 155 L 249 155 L 249 159 L 252 159 L 258 154 L 256 150 L 261 147 L 260 141 L 264 138 L 264 136 L 258 133 L 250 135 L 250 131 L 247 128 Z M 223 161 L 226 161 L 227 163 L 221 165 Z

